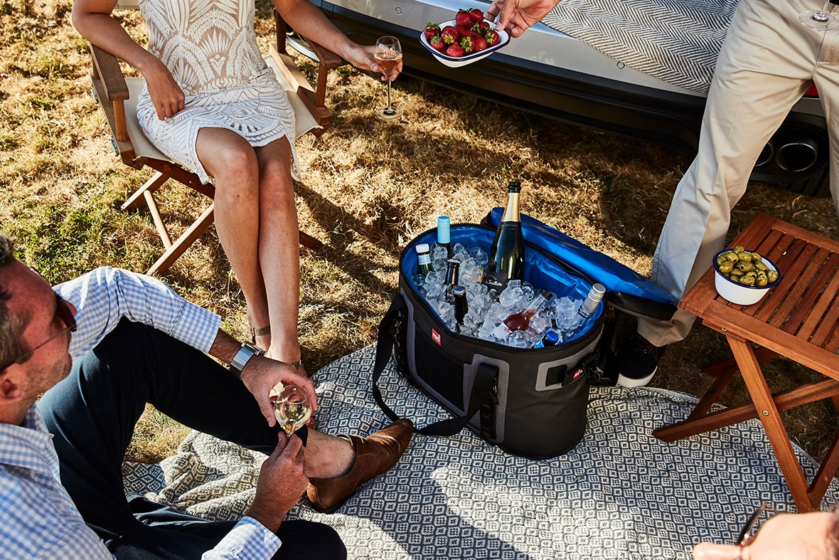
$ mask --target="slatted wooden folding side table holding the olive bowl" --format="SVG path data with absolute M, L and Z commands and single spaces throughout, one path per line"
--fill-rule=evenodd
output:
M 758 303 L 737 306 L 717 295 L 711 266 L 685 294 L 679 306 L 701 317 L 706 327 L 722 332 L 734 357 L 706 368 L 706 374 L 716 379 L 685 421 L 653 433 L 665 442 L 675 442 L 759 418 L 798 510 L 818 510 L 839 468 L 839 433 L 808 485 L 779 411 L 825 398 L 831 398 L 839 411 L 839 243 L 758 214 L 734 245 L 769 257 L 778 265 L 780 282 Z M 756 350 L 753 343 L 758 345 Z M 760 362 L 778 355 L 815 369 L 825 379 L 770 393 Z M 709 414 L 737 371 L 743 374 L 751 402 Z

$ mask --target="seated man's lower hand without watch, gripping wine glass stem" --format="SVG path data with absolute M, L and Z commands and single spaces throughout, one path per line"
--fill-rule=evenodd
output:
M 278 437 L 274 453 L 265 459 L 259 469 L 257 493 L 245 513 L 272 532 L 277 532 L 285 514 L 300 500 L 300 495 L 309 485 L 303 469 L 305 451 L 300 437 L 289 439 L 284 432 L 279 432 Z

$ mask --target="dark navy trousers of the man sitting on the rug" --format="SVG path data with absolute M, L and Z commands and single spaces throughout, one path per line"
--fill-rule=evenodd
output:
M 269 454 L 269 428 L 242 382 L 204 353 L 152 327 L 123 319 L 67 379 L 46 392 L 39 410 L 54 434 L 61 483 L 81 516 L 117 557 L 200 558 L 235 521 L 206 521 L 126 498 L 122 460 L 146 403 L 185 426 Z M 329 526 L 284 521 L 278 558 L 346 558 Z

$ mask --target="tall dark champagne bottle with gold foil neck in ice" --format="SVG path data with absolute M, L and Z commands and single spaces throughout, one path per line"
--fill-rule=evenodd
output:
M 492 239 L 487 273 L 483 277 L 483 283 L 497 295 L 510 280 L 521 280 L 524 272 L 524 236 L 519 218 L 521 183 L 510 181 L 508 192 L 507 208 Z

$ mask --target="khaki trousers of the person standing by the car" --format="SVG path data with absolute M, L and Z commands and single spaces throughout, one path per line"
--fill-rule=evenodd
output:
M 816 31 L 799 13 L 822 0 L 743 0 L 722 44 L 702 119 L 699 151 L 676 187 L 653 257 L 653 280 L 679 300 L 726 241 L 731 210 L 763 146 L 816 84 L 830 134 L 831 195 L 839 208 L 839 29 Z M 839 15 L 839 8 L 836 8 Z M 655 346 L 687 336 L 696 317 L 638 321 Z

